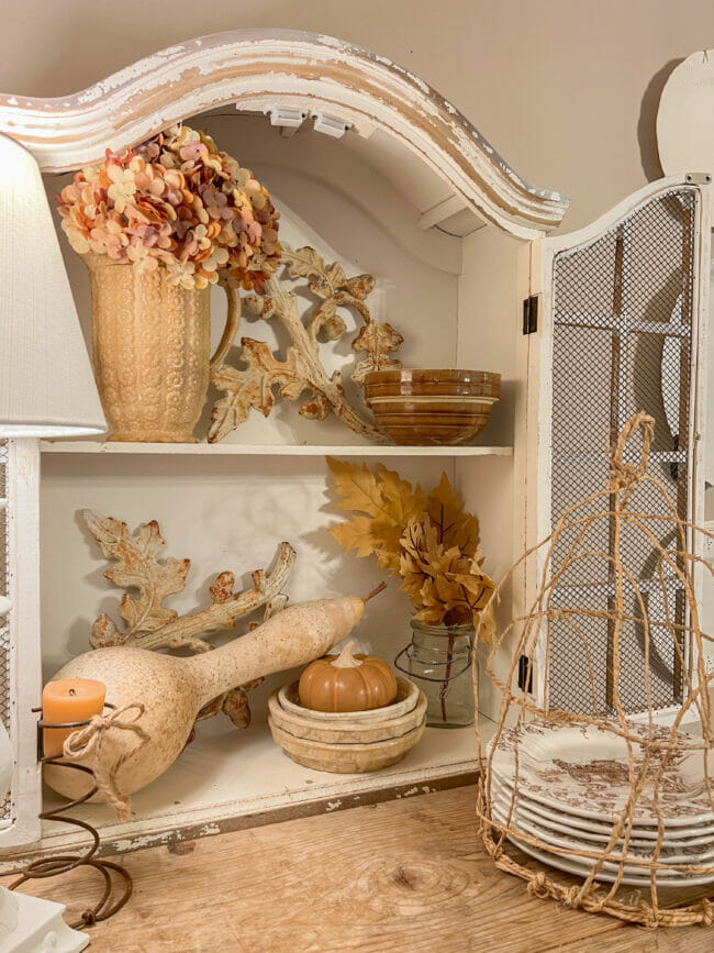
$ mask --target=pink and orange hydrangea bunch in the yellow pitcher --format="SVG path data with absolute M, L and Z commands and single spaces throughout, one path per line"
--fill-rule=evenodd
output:
M 278 213 L 249 169 L 210 135 L 174 125 L 133 149 L 107 149 L 57 196 L 62 226 L 80 255 L 164 265 L 183 288 L 219 279 L 260 290 L 280 261 Z

